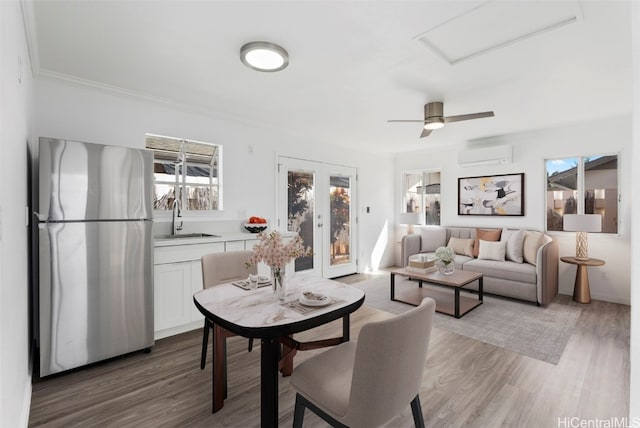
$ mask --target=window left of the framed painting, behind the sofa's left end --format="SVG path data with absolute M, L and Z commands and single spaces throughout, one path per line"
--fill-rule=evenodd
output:
M 401 212 L 421 213 L 421 224 L 440 225 L 440 171 L 402 175 Z

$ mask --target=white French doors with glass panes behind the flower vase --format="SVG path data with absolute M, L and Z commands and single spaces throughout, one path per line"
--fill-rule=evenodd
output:
M 335 278 L 358 271 L 356 187 L 353 167 L 278 158 L 278 226 L 313 251 L 295 261 L 296 272 Z

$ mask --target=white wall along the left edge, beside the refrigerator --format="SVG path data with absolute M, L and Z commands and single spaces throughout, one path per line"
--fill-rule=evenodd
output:
M 27 146 L 33 79 L 17 1 L 0 2 L 0 426 L 26 426 L 31 403 Z

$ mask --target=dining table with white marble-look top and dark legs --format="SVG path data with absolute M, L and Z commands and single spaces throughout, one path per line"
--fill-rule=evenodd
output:
M 214 324 L 212 411 L 224 405 L 225 344 L 219 328 L 248 338 L 260 339 L 260 419 L 262 427 L 278 426 L 278 371 L 283 354 L 282 343 L 298 349 L 314 349 L 292 340 L 295 333 L 342 318 L 342 337 L 318 341 L 315 347 L 334 345 L 349 340 L 349 315 L 362 306 L 364 291 L 310 273 L 295 273 L 286 278 L 286 298 L 278 301 L 272 287 L 245 290 L 226 283 L 200 290 L 193 296 L 198 310 Z M 303 292 L 324 294 L 323 306 L 305 306 Z M 302 299 L 304 301 L 304 299 Z M 293 357 L 288 361 L 293 368 Z M 284 371 L 283 371 L 284 373 Z

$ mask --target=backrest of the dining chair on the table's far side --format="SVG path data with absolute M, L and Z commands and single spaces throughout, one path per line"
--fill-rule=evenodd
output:
M 202 286 L 213 287 L 224 282 L 246 279 L 258 272 L 257 266 L 247 267 L 251 251 L 229 251 L 202 256 Z

